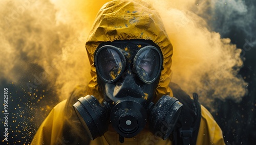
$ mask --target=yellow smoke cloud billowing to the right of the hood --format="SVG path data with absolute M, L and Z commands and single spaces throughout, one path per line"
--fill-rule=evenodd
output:
M 218 2 L 210 6 L 221 9 Z M 238 75 L 243 66 L 242 50 L 231 44 L 229 38 L 211 31 L 198 15 L 209 9 L 207 1 L 201 3 L 203 7 L 195 1 L 182 4 L 154 4 L 174 46 L 172 81 L 189 94 L 199 93 L 201 103 L 207 107 L 214 99 L 241 101 L 247 91 L 247 84 Z

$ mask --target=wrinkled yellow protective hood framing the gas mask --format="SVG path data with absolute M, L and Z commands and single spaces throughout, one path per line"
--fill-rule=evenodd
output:
M 165 32 L 162 19 L 158 12 L 144 1 L 111 1 L 102 6 L 97 14 L 92 30 L 86 42 L 88 58 L 91 64 L 92 80 L 88 85 L 88 94 L 103 99 L 99 93 L 94 52 L 102 42 L 114 40 L 145 39 L 156 43 L 163 54 L 161 78 L 156 89 L 156 102 L 162 95 L 172 96 L 169 88 L 172 71 L 173 46 Z

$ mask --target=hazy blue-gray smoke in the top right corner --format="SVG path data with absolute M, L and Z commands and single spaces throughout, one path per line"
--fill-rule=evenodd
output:
M 243 32 L 248 37 L 247 41 L 250 42 L 251 47 L 256 44 L 256 38 L 252 33 L 256 28 L 256 10 L 253 0 L 198 0 L 196 4 L 191 10 L 203 16 L 213 30 L 227 36 L 236 29 L 232 34 L 234 37 L 240 37 L 239 33 Z

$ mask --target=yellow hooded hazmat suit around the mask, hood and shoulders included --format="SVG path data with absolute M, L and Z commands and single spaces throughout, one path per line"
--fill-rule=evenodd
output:
M 163 54 L 161 78 L 156 90 L 154 102 L 162 95 L 173 96 L 169 83 L 172 76 L 173 46 L 165 32 L 162 20 L 151 5 L 143 1 L 112 1 L 106 3 L 99 11 L 92 31 L 86 43 L 86 49 L 91 63 L 92 79 L 88 86 L 78 87 L 68 100 L 56 105 L 39 127 L 31 144 L 121 144 L 119 135 L 109 126 L 103 136 L 89 140 L 76 117 L 72 105 L 81 96 L 94 95 L 102 101 L 98 90 L 96 69 L 94 67 L 94 52 L 101 42 L 128 39 L 149 39 L 160 46 Z M 197 137 L 197 144 L 224 144 L 222 131 L 211 114 L 201 106 L 202 117 Z M 73 138 L 66 138 L 66 135 Z M 75 139 L 75 138 L 81 138 Z M 82 143 L 82 140 L 85 141 Z M 167 138 L 162 140 L 154 136 L 145 127 L 133 138 L 125 138 L 122 144 L 172 144 Z

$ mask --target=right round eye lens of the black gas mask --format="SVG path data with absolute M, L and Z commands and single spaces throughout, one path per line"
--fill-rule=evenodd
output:
M 160 51 L 154 46 L 145 46 L 137 53 L 134 59 L 139 78 L 145 83 L 155 81 L 161 71 Z

